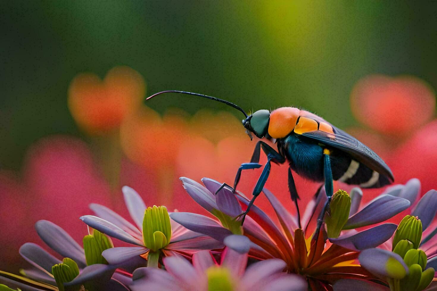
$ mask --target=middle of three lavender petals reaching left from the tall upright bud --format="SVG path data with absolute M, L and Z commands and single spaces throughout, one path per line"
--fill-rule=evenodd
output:
M 142 241 L 136 239 L 130 234 L 126 233 L 123 229 L 118 226 L 110 223 L 104 219 L 101 219 L 97 216 L 85 215 L 80 217 L 80 219 L 86 223 L 88 226 L 91 226 L 94 229 L 97 229 L 101 233 L 107 234 L 108 236 L 112 236 L 118 240 L 122 240 L 126 243 L 132 243 L 138 246 L 144 246 Z

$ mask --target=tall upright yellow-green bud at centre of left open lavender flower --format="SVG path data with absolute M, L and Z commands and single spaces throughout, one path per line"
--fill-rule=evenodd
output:
M 144 246 L 156 251 L 167 246 L 171 238 L 170 216 L 165 206 L 148 207 L 142 220 Z

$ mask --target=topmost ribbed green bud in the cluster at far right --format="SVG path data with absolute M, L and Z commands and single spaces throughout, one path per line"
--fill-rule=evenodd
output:
M 402 219 L 393 238 L 392 250 L 400 240 L 409 240 L 413 243 L 415 249 L 419 247 L 420 240 L 422 240 L 422 222 L 420 219 L 411 215 L 407 215 Z

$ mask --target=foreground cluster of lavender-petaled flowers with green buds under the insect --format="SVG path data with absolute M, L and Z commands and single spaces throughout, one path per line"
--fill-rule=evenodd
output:
M 243 226 L 235 217 L 249 203 L 218 181 L 181 178 L 187 193 L 212 214 L 147 207 L 123 187 L 132 224 L 91 204 L 80 219 L 92 231 L 83 247 L 47 220 L 35 228 L 62 260 L 35 243 L 21 256 L 33 267 L 21 275 L 0 271 L 0 290 L 424 290 L 435 281 L 437 191 L 419 202 L 420 182 L 395 185 L 361 205 L 362 192 L 337 191 L 321 233 L 314 236 L 326 200 L 320 190 L 302 221 L 264 189 L 277 220 L 253 205 Z M 411 206 L 411 207 L 410 207 Z M 387 219 L 407 211 L 399 226 Z M 111 238 L 126 243 L 114 247 Z M 435 288 L 435 286 L 434 286 Z

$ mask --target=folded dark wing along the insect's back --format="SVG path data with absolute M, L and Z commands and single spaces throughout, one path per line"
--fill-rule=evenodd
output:
M 392 182 L 394 181 L 392 171 L 374 151 L 343 130 L 336 127 L 333 127 L 333 130 L 335 134 L 315 130 L 305 132 L 302 136 L 344 151 L 360 163 L 363 163 L 372 170 L 387 176 Z

